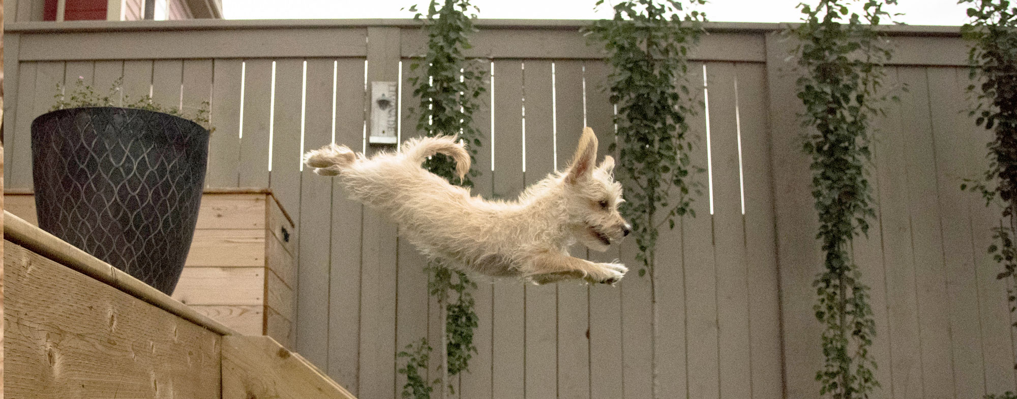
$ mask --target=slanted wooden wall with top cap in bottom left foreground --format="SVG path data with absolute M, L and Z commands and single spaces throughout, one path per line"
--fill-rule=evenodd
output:
M 356 399 L 298 353 L 244 336 L 4 212 L 4 393 L 64 399 Z

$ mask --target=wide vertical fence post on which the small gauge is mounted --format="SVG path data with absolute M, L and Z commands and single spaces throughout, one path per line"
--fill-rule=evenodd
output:
M 399 29 L 368 27 L 367 81 L 399 79 Z M 368 120 L 369 121 L 369 120 Z M 369 122 L 368 122 L 369 123 Z M 368 130 L 370 127 L 368 126 Z M 376 153 L 384 147 L 372 147 Z M 363 213 L 361 245 L 360 377 L 357 395 L 388 397 L 396 394 L 396 251 L 397 226 L 388 215 Z M 439 356 L 435 356 L 440 358 Z

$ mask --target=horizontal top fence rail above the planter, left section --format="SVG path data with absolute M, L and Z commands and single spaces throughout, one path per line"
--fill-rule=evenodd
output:
M 363 57 L 365 28 L 193 29 L 29 34 L 25 60 Z M 242 37 L 243 40 L 236 38 Z M 102 41 L 103 46 L 96 46 Z M 200 43 L 202 46 L 194 46 Z M 95 47 L 92 52 L 84 48 Z M 398 47 L 397 47 L 398 49 Z

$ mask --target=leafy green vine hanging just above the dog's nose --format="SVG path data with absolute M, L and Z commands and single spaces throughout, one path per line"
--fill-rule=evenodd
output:
M 597 1 L 598 6 L 603 3 Z M 706 15 L 686 10 L 687 4 L 623 1 L 614 5 L 612 19 L 587 28 L 603 44 L 613 70 L 608 89 L 617 107 L 617 142 L 609 150 L 618 150 L 614 170 L 627 182 L 621 211 L 633 224 L 637 260 L 643 263 L 641 276 L 652 271 L 658 228 L 664 223 L 674 228 L 676 216 L 695 216 L 690 193 L 701 191 L 691 179 L 702 169 L 690 160 L 693 142 L 687 123 L 700 104 L 693 101 L 685 77 L 689 50 L 704 34 Z

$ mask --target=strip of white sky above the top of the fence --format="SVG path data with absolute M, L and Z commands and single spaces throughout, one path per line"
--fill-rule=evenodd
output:
M 712 21 L 793 22 L 801 0 L 712 0 L 699 8 Z M 805 2 L 811 2 L 805 0 Z M 425 1 L 419 1 L 427 4 Z M 599 19 L 609 18 L 605 4 L 594 10 L 596 0 L 473 0 L 481 18 Z M 912 25 L 960 25 L 967 18 L 965 5 L 956 0 L 900 0 L 895 20 Z M 223 0 L 227 19 L 279 18 L 409 18 L 401 11 L 414 0 Z

